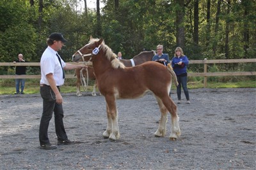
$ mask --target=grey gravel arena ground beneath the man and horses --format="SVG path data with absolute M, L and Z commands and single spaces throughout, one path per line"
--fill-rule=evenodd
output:
M 189 90 L 191 104 L 178 104 L 181 136 L 156 138 L 160 111 L 151 93 L 118 100 L 120 139 L 102 137 L 104 97 L 63 94 L 64 124 L 76 145 L 38 148 L 42 99 L 3 95 L 0 113 L 0 169 L 255 169 L 256 89 Z M 182 92 L 184 99 L 184 93 Z M 172 99 L 177 95 L 172 91 Z M 49 139 L 56 144 L 54 118 Z

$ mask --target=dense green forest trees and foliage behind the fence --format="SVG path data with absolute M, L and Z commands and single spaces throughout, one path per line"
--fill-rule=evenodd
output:
M 99 0 L 97 0 L 99 1 Z M 23 53 L 38 62 L 51 32 L 68 39 L 61 56 L 70 61 L 90 35 L 126 59 L 143 49 L 177 46 L 189 59 L 246 59 L 256 55 L 253 0 L 104 0 L 100 13 L 81 10 L 79 0 L 0 1 L 0 62 Z M 197 10 L 196 10 L 197 9 Z M 99 16 L 99 17 L 97 17 Z

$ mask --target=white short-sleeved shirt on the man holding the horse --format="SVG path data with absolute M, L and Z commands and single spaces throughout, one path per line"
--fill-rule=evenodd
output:
M 40 84 L 50 85 L 47 81 L 46 75 L 52 73 L 54 80 L 56 81 L 56 85 L 60 86 L 64 84 L 63 73 L 60 65 L 60 61 L 56 55 L 56 51 L 53 50 L 50 46 L 48 46 L 44 53 L 42 54 L 40 60 L 41 67 L 41 80 Z M 65 62 L 61 59 L 61 64 L 63 67 L 66 66 Z

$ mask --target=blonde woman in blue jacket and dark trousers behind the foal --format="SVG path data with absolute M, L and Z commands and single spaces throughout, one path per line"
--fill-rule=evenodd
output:
M 177 96 L 178 96 L 178 104 L 181 103 L 181 85 L 182 89 L 184 90 L 187 104 L 190 104 L 189 101 L 189 93 L 188 93 L 188 87 L 187 87 L 187 81 L 188 81 L 188 73 L 187 73 L 187 66 L 188 66 L 189 60 L 186 55 L 184 55 L 182 48 L 179 46 L 175 49 L 174 57 L 172 59 L 172 67 L 173 71 L 175 72 L 177 76 L 177 80 L 179 85 L 177 86 Z

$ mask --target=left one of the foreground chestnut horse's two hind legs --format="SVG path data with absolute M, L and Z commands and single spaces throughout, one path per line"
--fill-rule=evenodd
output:
M 156 96 L 155 96 L 156 97 Z M 157 103 L 159 105 L 159 109 L 161 111 L 161 119 L 159 121 L 159 126 L 157 131 L 155 132 L 155 136 L 157 137 L 162 137 L 165 136 L 166 134 L 166 123 L 168 120 L 167 117 L 167 109 L 164 106 L 163 102 L 161 101 L 161 99 L 159 99 L 158 97 L 156 97 Z

